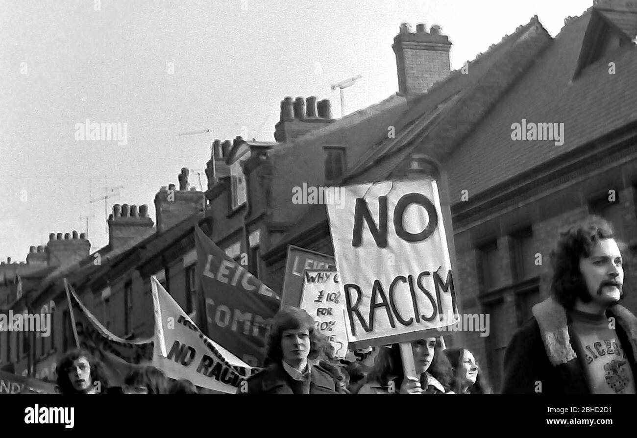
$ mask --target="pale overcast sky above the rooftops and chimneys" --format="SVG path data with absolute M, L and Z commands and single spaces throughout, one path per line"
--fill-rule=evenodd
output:
M 96 11 L 96 3 L 101 10 Z M 0 260 L 24 261 L 50 232 L 108 242 L 112 205 L 148 204 L 214 138 L 273 141 L 280 100 L 362 74 L 346 113 L 397 91 L 401 22 L 441 25 L 452 69 L 538 15 L 552 36 L 592 0 L 0 0 Z M 175 73 L 168 73 L 174 62 Z M 23 64 L 25 63 L 25 64 Z M 26 74 L 21 73 L 25 71 Z M 75 124 L 128 125 L 128 144 L 75 141 Z M 179 132 L 211 134 L 179 137 Z M 191 183 L 198 187 L 196 174 Z

